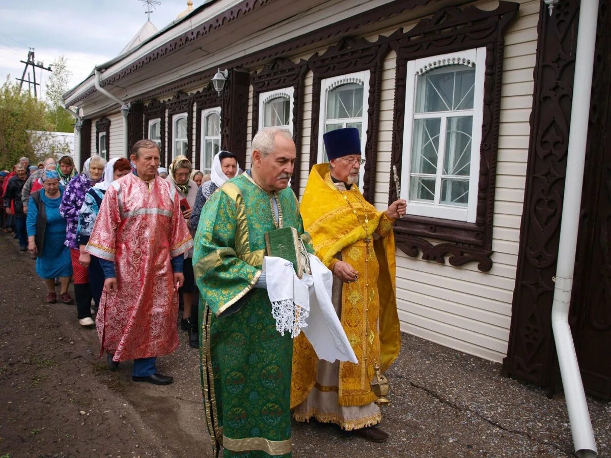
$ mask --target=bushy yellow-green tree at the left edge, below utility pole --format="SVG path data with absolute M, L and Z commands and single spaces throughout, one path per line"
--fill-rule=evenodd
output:
M 21 156 L 30 158 L 32 164 L 38 162 L 42 158 L 34 153 L 27 131 L 53 129 L 46 104 L 26 91 L 21 92 L 7 76 L 0 86 L 0 167 L 10 170 Z

